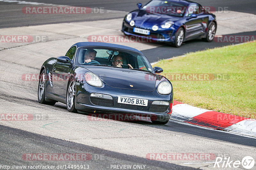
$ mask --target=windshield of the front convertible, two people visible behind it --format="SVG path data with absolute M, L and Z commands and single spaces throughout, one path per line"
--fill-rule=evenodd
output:
M 143 54 L 112 47 L 79 47 L 76 51 L 75 64 L 120 68 L 119 64 L 121 68 L 152 72 L 152 67 Z

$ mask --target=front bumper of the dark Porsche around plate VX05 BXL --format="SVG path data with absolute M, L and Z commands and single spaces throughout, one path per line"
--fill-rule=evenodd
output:
M 169 95 L 160 95 L 157 90 L 154 91 L 142 91 L 142 90 L 132 90 L 132 89 L 120 89 L 113 88 L 106 84 L 102 87 L 93 87 L 87 83 L 76 83 L 76 109 L 84 111 L 86 113 L 108 113 L 108 114 L 133 114 L 137 116 L 146 117 L 162 117 L 167 119 L 170 117 L 172 112 L 173 96 L 172 93 Z M 104 95 L 110 95 L 113 98 L 113 106 L 99 106 L 92 102 L 91 93 L 99 93 Z M 140 99 L 147 99 L 148 106 L 138 106 L 131 104 L 117 103 L 118 96 L 133 97 Z M 152 102 L 160 100 L 167 101 L 170 104 L 167 106 L 168 109 L 164 112 L 152 112 L 152 108 L 159 105 L 153 105 Z M 153 106 L 152 106 L 153 105 Z M 156 108 L 157 108 L 156 107 Z M 149 116 L 147 116 L 149 115 Z

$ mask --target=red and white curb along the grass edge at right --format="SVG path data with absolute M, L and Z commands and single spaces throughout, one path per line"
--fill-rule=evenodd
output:
M 173 101 L 171 119 L 215 130 L 256 137 L 256 120 L 200 109 Z

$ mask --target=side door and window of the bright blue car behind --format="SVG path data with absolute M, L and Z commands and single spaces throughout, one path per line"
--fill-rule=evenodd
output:
M 201 15 L 201 9 L 198 4 L 191 4 L 188 6 L 187 13 L 185 14 L 187 22 L 186 27 L 186 40 L 200 37 L 204 34 L 203 23 L 205 21 L 205 15 Z

